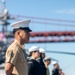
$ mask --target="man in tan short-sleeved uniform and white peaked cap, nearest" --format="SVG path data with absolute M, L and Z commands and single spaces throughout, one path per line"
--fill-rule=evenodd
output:
M 27 57 L 24 44 L 29 41 L 30 20 L 22 20 L 11 24 L 15 41 L 6 51 L 6 75 L 28 75 Z

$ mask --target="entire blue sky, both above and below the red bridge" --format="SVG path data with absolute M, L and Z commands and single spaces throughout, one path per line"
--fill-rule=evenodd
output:
M 75 0 L 6 0 L 6 8 L 8 9 L 9 14 L 13 15 L 33 16 L 33 17 L 73 20 L 73 21 L 75 20 Z M 69 23 L 69 22 L 63 23 L 63 22 L 45 21 L 45 20 L 36 20 L 36 19 L 31 19 L 31 20 L 75 25 L 75 23 Z M 12 23 L 14 21 L 10 22 Z M 75 31 L 75 27 L 72 26 L 57 26 L 57 25 L 50 25 L 50 24 L 46 25 L 46 24 L 36 24 L 36 23 L 31 23 L 30 28 L 34 32 L 35 31 Z M 8 30 L 12 30 L 12 28 L 8 26 Z M 26 48 L 29 48 L 32 45 L 41 46 L 46 50 L 75 52 L 74 42 L 26 44 Z M 75 74 L 74 71 L 75 56 L 51 54 L 51 53 L 46 53 L 46 54 L 59 60 L 60 67 L 65 72 L 65 75 Z M 51 64 L 50 70 L 52 70 L 52 68 L 53 65 Z

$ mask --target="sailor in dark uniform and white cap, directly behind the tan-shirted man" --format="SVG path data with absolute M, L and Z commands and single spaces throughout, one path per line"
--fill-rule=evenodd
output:
M 30 59 L 28 60 L 28 75 L 42 75 L 40 64 L 36 61 L 39 58 L 39 47 L 29 48 Z

